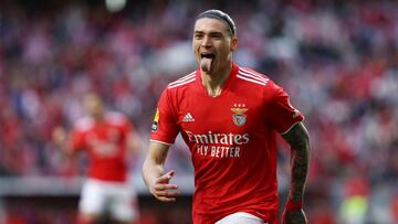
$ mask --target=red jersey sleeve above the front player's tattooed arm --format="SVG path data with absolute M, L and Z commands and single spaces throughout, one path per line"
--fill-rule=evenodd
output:
M 295 124 L 304 120 L 304 116 L 293 107 L 286 92 L 271 82 L 264 90 L 265 119 L 279 132 L 287 132 Z

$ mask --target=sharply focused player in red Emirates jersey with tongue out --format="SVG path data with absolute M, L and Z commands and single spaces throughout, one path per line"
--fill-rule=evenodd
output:
M 143 177 L 150 193 L 174 202 L 174 171 L 164 171 L 169 146 L 181 134 L 195 168 L 195 224 L 274 224 L 277 221 L 276 146 L 292 149 L 283 223 L 306 223 L 303 211 L 310 139 L 303 115 L 268 76 L 232 62 L 238 47 L 232 19 L 209 10 L 196 19 L 197 71 L 163 92 Z

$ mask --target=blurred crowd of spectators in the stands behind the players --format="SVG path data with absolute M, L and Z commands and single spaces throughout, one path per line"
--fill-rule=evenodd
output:
M 268 74 L 306 117 L 310 221 L 398 222 L 396 1 L 150 0 L 119 13 L 95 1 L 29 2 L 0 7 L 0 175 L 75 173 L 51 135 L 82 116 L 88 90 L 148 140 L 159 94 L 196 67 L 195 15 L 219 8 L 237 23 L 234 61 Z M 169 162 L 190 173 L 188 150 L 175 153 Z

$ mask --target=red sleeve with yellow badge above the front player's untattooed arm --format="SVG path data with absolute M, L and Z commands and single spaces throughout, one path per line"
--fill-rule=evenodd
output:
M 178 135 L 175 109 L 171 97 L 166 88 L 158 102 L 158 107 L 151 126 L 150 141 L 158 141 L 166 145 L 172 145 Z

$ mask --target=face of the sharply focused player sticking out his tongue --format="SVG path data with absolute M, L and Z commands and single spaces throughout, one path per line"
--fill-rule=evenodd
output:
M 231 66 L 232 52 L 237 49 L 238 39 L 231 36 L 224 22 L 201 18 L 193 29 L 192 49 L 198 64 L 205 74 L 218 74 Z

